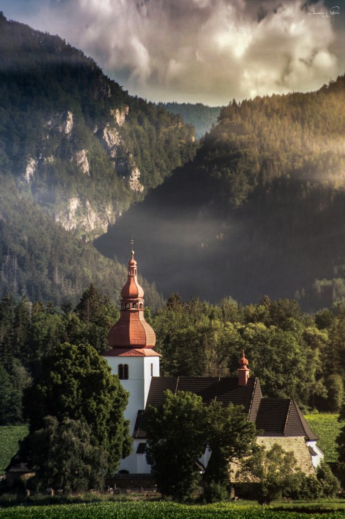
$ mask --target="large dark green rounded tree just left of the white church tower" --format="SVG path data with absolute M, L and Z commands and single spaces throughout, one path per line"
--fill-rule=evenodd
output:
M 106 361 L 90 345 L 64 343 L 43 358 L 41 373 L 24 392 L 24 414 L 30 435 L 44 427 L 47 416 L 84 420 L 93 446 L 107 453 L 109 471 L 131 450 L 123 413 L 127 392 Z

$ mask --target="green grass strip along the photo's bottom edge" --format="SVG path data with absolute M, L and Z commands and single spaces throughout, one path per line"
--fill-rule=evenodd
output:
M 319 507 L 262 507 L 217 503 L 184 505 L 172 502 L 108 502 L 48 507 L 0 509 L 0 519 L 344 519 L 344 509 Z

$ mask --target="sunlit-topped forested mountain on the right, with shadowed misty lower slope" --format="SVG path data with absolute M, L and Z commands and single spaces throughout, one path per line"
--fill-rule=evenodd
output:
M 231 102 L 193 163 L 97 246 L 111 254 L 138 222 L 145 275 L 166 296 L 329 306 L 345 297 L 344 136 L 344 76 L 315 93 Z

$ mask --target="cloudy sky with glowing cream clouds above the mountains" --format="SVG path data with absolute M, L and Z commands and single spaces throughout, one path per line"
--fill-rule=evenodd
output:
M 133 95 L 228 104 L 345 72 L 345 0 L 0 0 L 82 49 Z

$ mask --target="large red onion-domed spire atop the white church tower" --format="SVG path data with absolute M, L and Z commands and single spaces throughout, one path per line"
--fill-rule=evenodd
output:
M 109 331 L 108 342 L 113 349 L 152 348 L 156 334 L 144 318 L 144 291 L 138 283 L 134 251 L 128 262 L 127 283 L 121 291 L 120 319 Z

